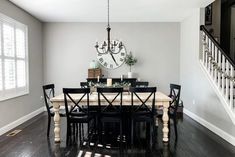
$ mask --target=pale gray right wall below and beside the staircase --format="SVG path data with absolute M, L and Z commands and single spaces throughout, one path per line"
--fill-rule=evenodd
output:
M 199 65 L 199 26 L 199 9 L 181 23 L 182 99 L 187 110 L 235 137 L 235 126 Z

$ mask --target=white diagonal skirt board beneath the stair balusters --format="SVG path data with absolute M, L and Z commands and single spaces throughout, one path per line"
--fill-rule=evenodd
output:
M 235 125 L 235 113 L 232 111 L 231 108 L 229 108 L 229 104 L 228 104 L 227 100 L 221 94 L 220 89 L 217 87 L 217 84 L 214 82 L 213 78 L 211 78 L 210 74 L 208 73 L 207 69 L 203 65 L 202 61 L 199 61 L 199 65 L 200 65 L 203 73 L 206 75 L 206 78 L 210 82 L 210 85 L 214 89 L 216 95 L 219 97 L 225 111 L 228 113 L 230 119 L 232 120 L 233 124 Z

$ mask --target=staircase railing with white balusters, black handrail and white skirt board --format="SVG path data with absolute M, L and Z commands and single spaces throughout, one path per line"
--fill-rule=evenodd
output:
M 235 64 L 204 26 L 200 65 L 235 125 Z

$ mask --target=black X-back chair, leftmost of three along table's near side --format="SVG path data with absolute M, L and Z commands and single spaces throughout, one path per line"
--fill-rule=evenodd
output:
M 89 88 L 63 88 L 65 110 L 67 117 L 67 139 L 71 137 L 73 133 L 75 137 L 75 131 L 77 132 L 77 124 L 79 124 L 79 137 L 80 144 L 82 144 L 82 138 L 84 139 L 84 130 L 81 131 L 81 126 L 87 124 L 87 139 L 90 142 L 90 124 L 93 120 L 93 116 L 90 114 L 89 105 Z M 79 95 L 79 99 L 75 99 L 73 94 Z M 83 137 L 81 138 L 81 134 Z

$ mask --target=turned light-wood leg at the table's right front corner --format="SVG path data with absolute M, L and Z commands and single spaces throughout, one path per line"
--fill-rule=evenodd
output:
M 163 142 L 168 142 L 168 121 L 169 121 L 169 116 L 168 116 L 168 107 L 169 107 L 169 102 L 164 102 L 163 104 L 163 116 L 162 116 L 162 121 L 163 121 Z

